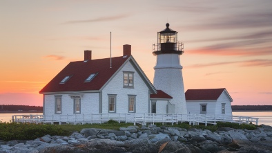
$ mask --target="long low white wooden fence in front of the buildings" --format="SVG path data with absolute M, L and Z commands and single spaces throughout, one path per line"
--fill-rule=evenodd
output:
M 246 116 L 224 116 L 211 114 L 74 114 L 74 115 L 14 115 L 12 122 L 18 123 L 51 123 L 51 124 L 86 124 L 105 123 L 108 120 L 117 120 L 119 123 L 136 123 L 146 125 L 147 123 L 184 123 L 190 125 L 205 125 L 216 122 L 230 123 L 253 123 L 258 125 L 258 118 Z

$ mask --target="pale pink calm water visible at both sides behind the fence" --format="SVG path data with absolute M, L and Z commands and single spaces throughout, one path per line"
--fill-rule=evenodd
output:
M 29 113 L 11 113 L 0 114 L 0 122 L 10 122 L 14 115 L 29 115 Z M 42 113 L 36 113 L 32 115 L 42 115 Z M 233 111 L 233 116 L 249 116 L 259 118 L 258 125 L 264 124 L 272 126 L 272 111 Z

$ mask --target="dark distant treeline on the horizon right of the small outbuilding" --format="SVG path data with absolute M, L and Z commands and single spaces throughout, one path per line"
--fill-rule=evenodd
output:
M 233 105 L 233 111 L 272 111 L 272 105 Z

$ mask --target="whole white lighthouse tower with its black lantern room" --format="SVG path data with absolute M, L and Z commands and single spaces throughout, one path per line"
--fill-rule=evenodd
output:
M 171 104 L 175 105 L 175 114 L 187 114 L 182 78 L 182 66 L 179 56 L 184 53 L 183 44 L 177 42 L 177 31 L 169 28 L 157 33 L 157 44 L 153 44 L 153 55 L 157 56 L 154 67 L 153 84 L 157 90 L 162 90 L 172 96 Z

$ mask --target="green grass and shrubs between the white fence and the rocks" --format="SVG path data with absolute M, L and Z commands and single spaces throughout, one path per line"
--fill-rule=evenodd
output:
M 49 134 L 50 136 L 70 136 L 72 132 L 80 132 L 84 128 L 97 128 L 97 129 L 116 129 L 120 127 L 128 127 L 133 123 L 118 123 L 115 120 L 109 120 L 108 123 L 103 124 L 85 124 L 85 125 L 41 125 L 30 123 L 2 123 L 0 121 L 0 140 L 33 140 Z M 189 125 L 188 123 L 178 123 L 174 125 L 162 125 L 162 123 L 156 123 L 157 127 L 180 127 L 184 129 L 197 128 L 208 129 L 211 132 L 215 132 L 218 127 L 231 127 L 234 129 L 256 129 L 256 125 L 239 125 L 237 123 L 217 123 L 217 125 Z M 141 125 L 138 125 L 141 127 Z

